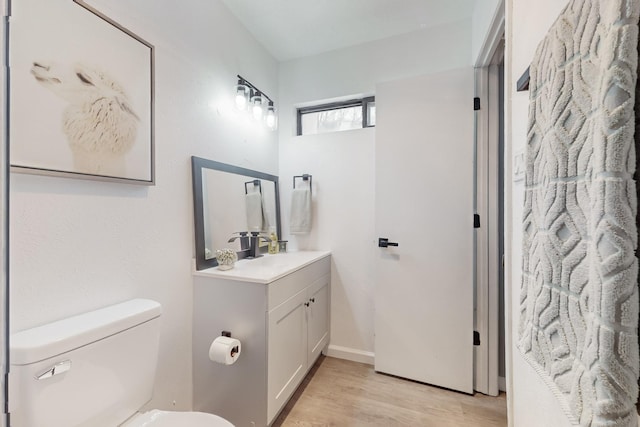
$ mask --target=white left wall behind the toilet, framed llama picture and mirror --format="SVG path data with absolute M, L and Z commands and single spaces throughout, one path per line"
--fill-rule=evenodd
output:
M 12 174 L 11 329 L 155 299 L 151 405 L 190 409 L 190 156 L 277 174 L 277 134 L 231 107 L 236 74 L 276 98 L 277 63 L 219 0 L 90 3 L 155 45 L 156 185 Z

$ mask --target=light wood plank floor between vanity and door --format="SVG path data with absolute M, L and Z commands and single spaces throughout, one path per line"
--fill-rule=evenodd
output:
M 506 425 L 504 393 L 469 396 L 324 356 L 273 423 L 273 427 Z

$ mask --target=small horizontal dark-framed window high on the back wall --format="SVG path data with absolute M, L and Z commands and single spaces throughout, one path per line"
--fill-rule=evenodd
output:
M 376 125 L 375 97 L 298 108 L 298 135 L 338 132 Z

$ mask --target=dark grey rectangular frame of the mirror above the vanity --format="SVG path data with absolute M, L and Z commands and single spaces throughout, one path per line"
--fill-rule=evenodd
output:
M 227 163 L 220 163 L 214 160 L 203 159 L 202 157 L 191 156 L 191 174 L 193 181 L 193 223 L 195 231 L 195 246 L 196 246 L 196 270 L 204 270 L 218 265 L 218 260 L 213 257 L 207 259 L 205 257 L 205 238 L 204 238 L 204 195 L 202 194 L 202 170 L 213 169 L 221 172 L 233 173 L 236 175 L 243 175 L 249 178 L 263 179 L 266 181 L 272 181 L 275 184 L 275 197 L 276 197 L 276 230 L 278 236 L 282 236 L 281 224 L 280 224 L 280 191 L 278 188 L 278 177 L 276 175 L 270 175 L 264 172 L 259 172 L 251 169 L 241 168 L 239 166 L 229 165 Z M 233 230 L 243 231 L 243 230 Z M 266 251 L 265 248 L 261 248 L 261 251 Z M 241 258 L 238 256 L 238 258 Z

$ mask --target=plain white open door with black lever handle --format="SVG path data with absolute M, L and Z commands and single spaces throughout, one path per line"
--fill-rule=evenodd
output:
M 473 392 L 473 70 L 376 89 L 375 369 Z

